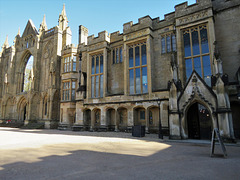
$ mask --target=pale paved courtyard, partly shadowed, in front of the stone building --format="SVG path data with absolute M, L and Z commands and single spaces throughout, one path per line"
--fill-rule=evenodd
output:
M 0 179 L 240 179 L 239 146 L 226 146 L 227 158 L 210 158 L 209 142 L 200 142 L 0 128 Z

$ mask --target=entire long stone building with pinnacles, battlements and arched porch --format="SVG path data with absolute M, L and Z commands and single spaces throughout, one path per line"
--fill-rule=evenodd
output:
M 175 139 L 240 138 L 240 1 L 182 3 L 164 19 L 142 17 L 123 33 L 71 44 L 58 25 L 31 20 L 0 52 L 0 121 L 45 128 L 131 131 Z

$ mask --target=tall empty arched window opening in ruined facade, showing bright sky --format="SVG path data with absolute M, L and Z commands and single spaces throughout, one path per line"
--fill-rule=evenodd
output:
M 32 77 L 33 76 L 33 56 L 28 58 L 25 66 L 24 78 L 23 78 L 23 92 L 27 92 L 31 89 Z

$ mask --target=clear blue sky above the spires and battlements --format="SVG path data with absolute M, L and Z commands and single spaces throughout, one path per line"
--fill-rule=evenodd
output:
M 69 26 L 72 30 L 72 43 L 78 43 L 78 26 L 88 28 L 89 35 L 97 36 L 98 32 L 122 32 L 123 24 L 129 21 L 138 22 L 138 18 L 150 15 L 152 18 L 164 18 L 164 14 L 174 11 L 174 6 L 184 0 L 0 0 L 0 49 L 6 35 L 9 44 L 17 35 L 21 35 L 32 19 L 39 29 L 43 15 L 46 15 L 48 29 L 58 25 L 58 17 L 63 4 Z M 188 4 L 196 0 L 188 0 Z

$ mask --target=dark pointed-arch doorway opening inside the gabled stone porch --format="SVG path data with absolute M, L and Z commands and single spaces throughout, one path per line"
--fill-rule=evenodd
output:
M 194 103 L 187 113 L 188 138 L 211 139 L 212 120 L 208 109 Z

